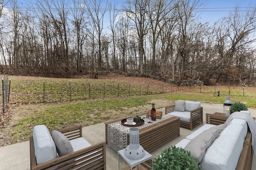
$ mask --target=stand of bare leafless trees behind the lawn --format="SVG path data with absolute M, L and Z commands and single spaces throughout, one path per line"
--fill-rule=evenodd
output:
M 204 0 L 0 0 L 0 72 L 160 74 L 255 83 L 256 7 L 201 23 Z

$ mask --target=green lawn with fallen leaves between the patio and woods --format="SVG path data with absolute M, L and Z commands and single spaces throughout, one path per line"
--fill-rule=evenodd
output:
M 38 90 L 38 82 L 43 82 L 43 80 L 45 82 L 58 81 L 60 83 L 58 87 L 52 85 L 51 88 L 53 92 L 61 91 L 60 87 L 63 88 L 66 86 L 65 84 L 67 82 L 66 79 L 12 77 L 12 100 L 10 101 L 15 102 L 10 103 L 10 105 L 15 107 L 11 108 L 10 112 L 12 113 L 12 116 L 0 129 L 0 143 L 2 143 L 2 146 L 28 140 L 28 137 L 32 135 L 32 129 L 35 125 L 44 124 L 49 130 L 62 129 L 74 125 L 88 126 L 148 111 L 151 109 L 152 102 L 155 102 L 156 108 L 174 104 L 175 100 L 192 100 L 208 104 L 223 104 L 226 100 L 226 95 L 229 94 L 226 86 L 193 86 L 178 88 L 177 86 L 170 86 L 157 80 L 146 78 L 140 78 L 138 82 L 146 83 L 139 84 L 135 81 L 135 78 L 125 77 L 125 79 L 118 79 L 115 81 L 90 80 L 90 83 L 94 82 L 95 86 L 99 86 L 96 85 L 97 81 L 98 84 L 101 85 L 102 82 L 108 82 L 108 84 L 110 84 L 110 82 L 119 82 L 120 84 L 130 84 L 130 86 L 134 88 L 139 86 L 147 87 L 147 82 L 151 81 L 151 83 L 153 82 L 153 84 L 159 85 L 158 91 L 154 91 L 152 88 L 150 92 L 156 94 L 142 95 L 137 93 L 130 96 L 127 94 L 117 96 L 110 94 L 110 88 L 110 90 L 108 90 L 109 92 L 106 93 L 106 97 L 98 96 L 97 98 L 84 98 L 83 100 L 75 100 L 76 98 L 74 98 L 71 101 L 64 100 L 63 102 L 54 102 L 54 100 L 52 100 L 50 103 L 33 102 L 31 104 L 31 101 L 38 100 L 38 97 L 36 96 L 38 92 L 42 92 Z M 20 85 L 18 85 L 19 81 Z M 72 80 L 71 82 L 74 83 L 79 81 L 82 82 L 82 80 Z M 159 90 L 162 89 L 161 87 L 163 85 L 166 93 L 161 93 L 161 90 Z M 68 88 L 68 86 L 66 88 Z M 79 88 L 78 85 L 76 85 L 76 87 Z M 112 89 L 113 88 L 114 87 L 112 87 Z M 220 90 L 220 96 L 214 94 L 214 91 L 217 91 L 217 88 Z M 157 87 L 154 87 L 154 89 L 157 89 Z M 254 89 L 254 87 L 230 87 L 232 102 L 243 102 L 247 107 L 256 109 L 256 97 L 254 97 L 256 96 L 256 92 Z M 148 89 L 146 88 L 144 93 L 146 93 L 147 90 Z M 245 90 L 245 96 L 243 93 L 241 95 L 241 90 L 242 92 Z M 79 90 L 75 91 L 79 92 Z M 94 92 L 94 94 L 96 94 L 96 92 Z M 28 100 L 25 100 L 26 95 L 30 96 Z M 100 95 L 102 95 L 102 92 L 100 92 Z M 17 103 L 23 104 L 17 106 Z

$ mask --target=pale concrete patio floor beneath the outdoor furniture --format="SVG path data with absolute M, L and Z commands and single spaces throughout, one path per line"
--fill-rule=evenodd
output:
M 196 126 L 193 131 L 201 127 L 205 124 L 206 113 L 214 113 L 214 112 L 223 112 L 223 105 L 221 104 L 201 104 L 203 107 L 203 124 Z M 163 111 L 164 108 L 158 109 Z M 249 109 L 252 117 L 256 117 L 256 110 Z M 150 152 L 153 156 L 160 155 L 161 149 L 175 145 L 180 140 L 184 139 L 187 135 L 192 133 L 186 128 L 180 128 L 180 137 L 176 137 L 167 143 L 161 145 L 158 149 Z M 99 143 L 101 141 L 105 141 L 105 124 L 99 123 L 96 125 L 91 125 L 88 127 L 82 128 L 82 136 L 92 145 Z M 30 169 L 30 149 L 29 149 L 29 141 L 21 142 L 13 145 L 9 145 L 6 147 L 0 148 L 0 170 L 29 170 Z M 126 162 L 120 158 L 120 168 L 126 166 Z M 117 153 L 106 146 L 106 168 L 107 170 L 118 170 L 118 157 Z M 256 160 L 255 156 L 252 163 L 252 170 L 256 170 Z

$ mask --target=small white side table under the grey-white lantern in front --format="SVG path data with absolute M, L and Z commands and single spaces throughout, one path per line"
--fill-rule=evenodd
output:
M 125 151 L 125 149 L 122 149 L 122 150 L 118 151 L 118 170 L 120 170 L 120 168 L 119 168 L 119 155 L 122 156 L 122 158 L 130 165 L 131 170 L 132 170 L 132 166 L 136 166 L 136 165 L 137 165 L 137 170 L 138 170 L 138 164 L 140 164 L 142 162 L 145 162 L 146 160 L 152 159 L 152 164 L 153 164 L 153 156 L 150 153 L 148 153 L 146 150 L 145 150 L 145 156 L 143 158 L 139 159 L 139 160 L 133 160 L 133 159 L 127 158 L 124 155 L 124 151 Z

